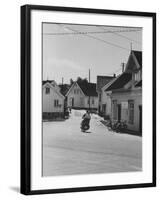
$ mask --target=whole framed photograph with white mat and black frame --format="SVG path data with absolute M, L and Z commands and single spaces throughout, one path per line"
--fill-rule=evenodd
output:
M 156 14 L 22 6 L 21 193 L 153 186 Z

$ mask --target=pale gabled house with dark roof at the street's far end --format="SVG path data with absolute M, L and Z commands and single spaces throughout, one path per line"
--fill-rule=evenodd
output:
M 98 94 L 95 83 L 74 82 L 66 97 L 68 107 L 93 110 L 98 108 Z

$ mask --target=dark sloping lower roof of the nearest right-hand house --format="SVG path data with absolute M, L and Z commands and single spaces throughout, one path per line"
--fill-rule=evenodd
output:
M 131 79 L 132 74 L 124 72 L 105 91 L 123 88 Z

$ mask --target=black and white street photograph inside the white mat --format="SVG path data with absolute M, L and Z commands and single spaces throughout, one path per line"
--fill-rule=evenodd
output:
M 42 176 L 143 170 L 142 37 L 42 23 Z

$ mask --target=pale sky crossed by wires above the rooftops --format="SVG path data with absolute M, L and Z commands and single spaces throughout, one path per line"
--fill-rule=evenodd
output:
M 58 84 L 70 78 L 121 73 L 131 46 L 142 51 L 142 29 L 133 27 L 86 26 L 43 23 L 43 80 Z M 132 43 L 132 45 L 131 45 Z

